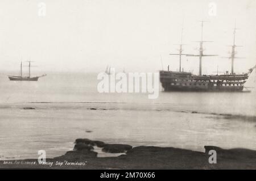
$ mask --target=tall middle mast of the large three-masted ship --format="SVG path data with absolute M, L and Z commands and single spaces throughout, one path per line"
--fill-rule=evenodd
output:
M 208 22 L 208 21 L 201 20 L 201 41 L 198 41 L 199 42 L 199 54 L 187 55 L 187 56 L 192 56 L 192 57 L 199 57 L 199 75 L 202 75 L 202 58 L 209 57 L 209 56 L 218 56 L 217 54 L 204 54 L 203 43 L 212 42 L 212 41 L 203 41 L 204 22 Z

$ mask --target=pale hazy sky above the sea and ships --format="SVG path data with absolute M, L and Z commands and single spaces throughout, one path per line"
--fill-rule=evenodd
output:
M 39 16 L 39 3 L 46 16 Z M 209 3 L 217 5 L 209 15 Z M 42 12 L 42 11 L 40 11 Z M 41 14 L 42 15 L 42 14 Z M 254 0 L 1 0 L 0 70 L 19 71 L 19 62 L 35 61 L 34 71 L 158 71 L 179 66 L 177 53 L 184 19 L 184 53 L 197 53 L 199 20 L 205 23 L 203 73 L 230 71 L 229 56 L 236 19 L 235 71 L 242 73 L 256 62 L 256 1 Z M 183 68 L 198 73 L 198 58 L 183 57 Z

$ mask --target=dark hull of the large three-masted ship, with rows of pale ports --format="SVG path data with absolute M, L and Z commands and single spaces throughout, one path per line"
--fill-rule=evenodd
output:
M 164 91 L 242 92 L 247 79 L 247 74 L 198 76 L 189 72 L 160 71 Z

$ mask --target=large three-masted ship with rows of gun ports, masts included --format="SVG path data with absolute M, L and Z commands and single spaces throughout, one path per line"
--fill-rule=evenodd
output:
M 236 26 L 234 28 L 234 37 L 232 45 L 232 53 L 229 57 L 231 59 L 231 73 L 226 71 L 225 74 L 218 75 L 202 75 L 202 58 L 208 56 L 217 56 L 216 54 L 204 54 L 203 44 L 210 41 L 203 40 L 203 27 L 204 22 L 201 21 L 201 41 L 199 41 L 199 54 L 184 54 L 181 43 L 178 54 L 171 54 L 179 56 L 179 71 L 160 71 L 160 82 L 164 91 L 243 91 L 244 85 L 249 78 L 251 72 L 256 69 L 256 65 L 249 69 L 247 73 L 236 74 L 234 73 L 234 59 L 236 57 L 235 37 Z M 199 57 L 199 75 L 194 75 L 190 71 L 181 71 L 181 56 Z

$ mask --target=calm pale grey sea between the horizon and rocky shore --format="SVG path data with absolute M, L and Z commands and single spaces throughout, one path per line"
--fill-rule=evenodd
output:
M 256 150 L 256 91 L 100 94 L 97 74 L 48 73 L 38 82 L 0 74 L 0 159 L 52 158 L 76 138 L 204 151 Z M 255 86 L 255 73 L 246 83 Z M 34 107 L 35 110 L 24 110 Z M 96 109 L 96 110 L 95 110 Z M 221 115 L 222 114 L 222 115 Z

